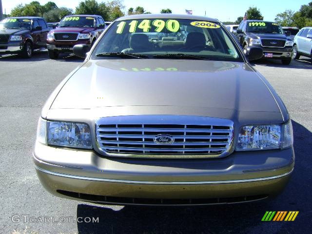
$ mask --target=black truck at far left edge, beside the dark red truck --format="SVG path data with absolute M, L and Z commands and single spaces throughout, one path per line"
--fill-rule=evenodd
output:
M 20 54 L 46 47 L 49 27 L 41 17 L 11 17 L 0 22 L 0 54 Z

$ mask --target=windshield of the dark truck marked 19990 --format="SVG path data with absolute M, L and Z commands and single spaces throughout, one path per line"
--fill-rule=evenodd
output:
M 254 21 L 247 24 L 248 33 L 275 33 L 284 34 L 283 29 L 278 23 Z

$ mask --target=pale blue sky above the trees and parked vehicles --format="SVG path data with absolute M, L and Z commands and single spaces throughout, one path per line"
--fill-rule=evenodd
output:
M 29 3 L 32 0 L 2 0 L 2 8 L 7 13 L 20 3 Z M 49 0 L 38 0 L 41 4 Z M 75 9 L 81 0 L 52 0 L 59 7 L 65 6 Z M 98 2 L 105 0 L 98 0 Z M 221 21 L 235 21 L 237 17 L 244 16 L 249 6 L 256 6 L 260 9 L 265 20 L 274 20 L 276 14 L 292 9 L 299 10 L 303 4 L 308 4 L 312 0 L 257 0 L 247 3 L 246 0 L 124 0 L 126 6 L 124 11 L 130 7 L 142 6 L 146 11 L 159 13 L 163 8 L 170 8 L 173 13 L 185 14 L 185 9 L 193 10 L 194 15 L 217 18 Z

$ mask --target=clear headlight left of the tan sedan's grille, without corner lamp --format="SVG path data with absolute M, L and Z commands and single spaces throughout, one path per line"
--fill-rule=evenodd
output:
M 90 128 L 85 123 L 47 121 L 47 143 L 92 149 Z

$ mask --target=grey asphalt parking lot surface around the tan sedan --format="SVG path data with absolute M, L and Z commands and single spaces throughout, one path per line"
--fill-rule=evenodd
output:
M 26 227 L 26 233 L 39 234 L 311 233 L 312 64 L 301 58 L 289 66 L 253 64 L 292 117 L 296 164 L 284 193 L 258 203 L 198 207 L 98 206 L 47 193 L 32 162 L 37 120 L 53 89 L 83 60 L 68 55 L 51 60 L 45 51 L 32 59 L 0 58 L 0 233 L 23 233 Z M 266 211 L 299 214 L 291 222 L 262 222 Z M 44 217 L 50 222 L 41 222 Z M 98 222 L 89 222 L 92 217 Z

